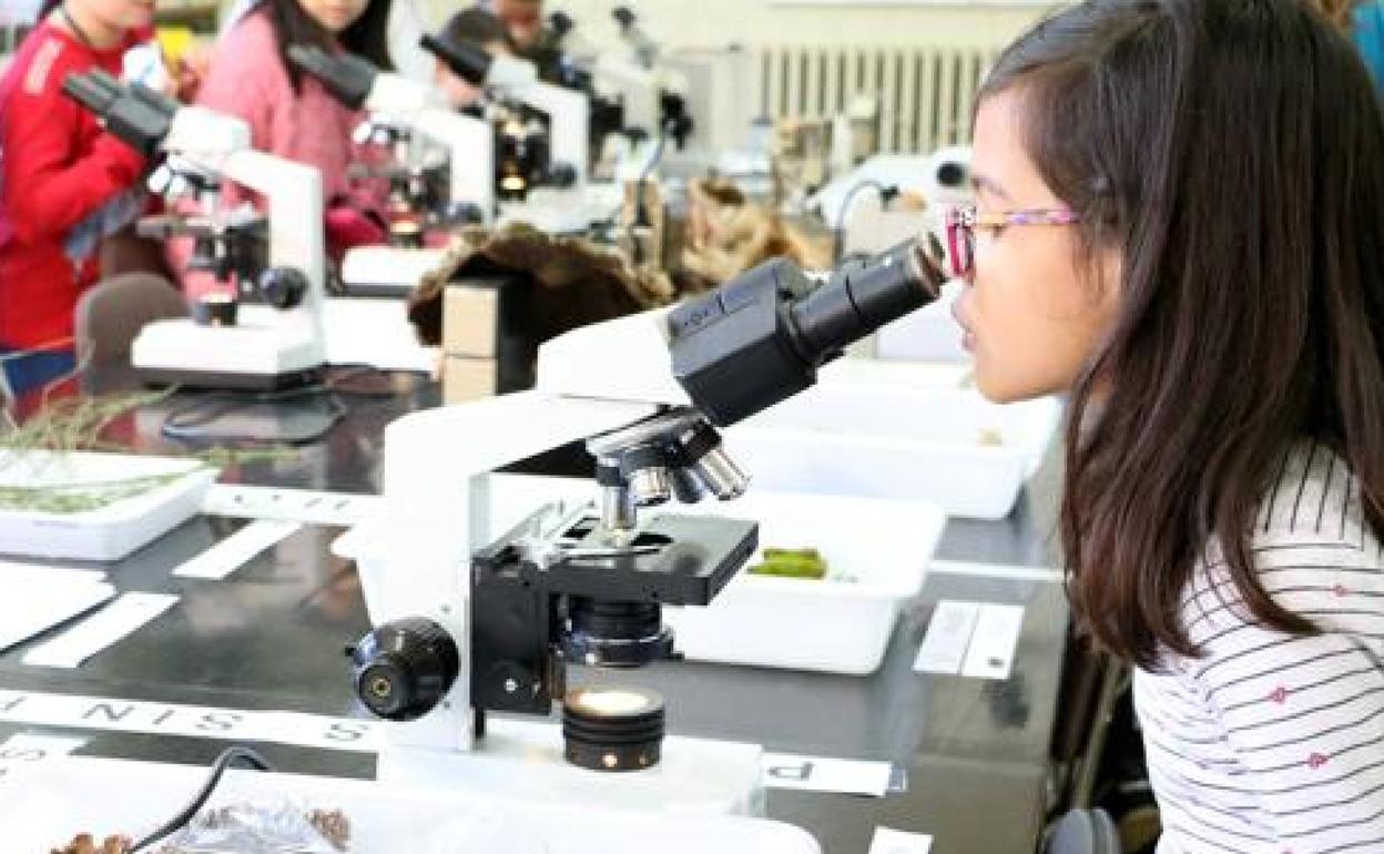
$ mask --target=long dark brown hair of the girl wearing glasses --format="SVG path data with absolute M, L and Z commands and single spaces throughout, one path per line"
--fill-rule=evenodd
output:
M 1287 450 L 1352 469 L 1384 532 L 1384 119 L 1354 47 L 1300 0 L 1091 0 L 1010 46 L 1026 148 L 1121 252 L 1120 309 L 1071 390 L 1062 538 L 1078 624 L 1143 667 L 1193 656 L 1182 601 L 1247 537 Z M 1099 392 L 1099 403 L 1096 397 Z M 1354 500 L 1354 498 L 1352 498 Z

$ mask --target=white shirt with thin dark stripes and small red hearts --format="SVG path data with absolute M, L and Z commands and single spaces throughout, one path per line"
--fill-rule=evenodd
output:
M 1158 854 L 1384 853 L 1384 552 L 1345 464 L 1287 454 L 1250 548 L 1269 597 L 1322 631 L 1259 624 L 1207 549 L 1182 609 L 1203 656 L 1135 673 Z

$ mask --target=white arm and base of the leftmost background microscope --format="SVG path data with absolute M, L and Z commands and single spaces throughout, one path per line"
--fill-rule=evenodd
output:
M 248 130 L 226 148 L 209 151 L 208 127 L 227 122 L 235 120 L 199 108 L 180 109 L 163 148 L 260 192 L 268 202 L 268 263 L 302 271 L 307 291 L 286 311 L 241 306 L 234 327 L 188 318 L 151 322 L 134 339 L 130 360 L 143 376 L 158 382 L 259 389 L 300 382 L 322 367 L 327 353 L 322 179 L 313 167 L 251 151 Z

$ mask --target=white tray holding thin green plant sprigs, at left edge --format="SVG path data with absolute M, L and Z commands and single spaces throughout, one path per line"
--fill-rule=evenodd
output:
M 0 487 L 111 486 L 179 475 L 148 491 L 82 512 L 0 509 L 0 552 L 76 561 L 119 561 L 198 512 L 217 471 L 198 460 L 25 451 L 0 454 Z

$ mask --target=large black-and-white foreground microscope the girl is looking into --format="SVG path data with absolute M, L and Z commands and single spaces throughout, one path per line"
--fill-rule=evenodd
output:
M 825 280 L 770 262 L 671 313 L 549 342 L 537 390 L 390 424 L 385 511 L 360 558 L 375 630 L 352 652 L 357 695 L 394 721 L 381 779 L 756 811 L 758 747 L 664 741 L 659 698 L 570 689 L 567 666 L 628 670 L 673 655 L 662 606 L 707 605 L 753 555 L 757 526 L 649 508 L 739 496 L 747 479 L 711 424 L 808 388 L 846 343 L 936 299 L 940 280 L 916 242 Z M 490 472 L 580 440 L 599 509 L 491 525 Z M 547 717 L 555 702 L 561 732 L 493 716 Z

